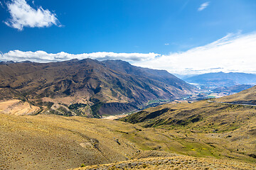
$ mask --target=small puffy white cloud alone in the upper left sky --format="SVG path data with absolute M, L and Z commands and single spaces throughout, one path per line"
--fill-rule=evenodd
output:
M 58 26 L 58 19 L 55 13 L 41 6 L 37 9 L 32 8 L 25 0 L 12 0 L 7 4 L 11 18 L 6 21 L 6 25 L 18 30 L 23 27 L 41 28 L 52 25 Z

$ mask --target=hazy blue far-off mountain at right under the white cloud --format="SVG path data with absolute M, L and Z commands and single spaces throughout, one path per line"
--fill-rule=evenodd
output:
M 239 84 L 256 84 L 256 74 L 216 72 L 188 77 L 183 80 L 206 86 L 235 86 Z

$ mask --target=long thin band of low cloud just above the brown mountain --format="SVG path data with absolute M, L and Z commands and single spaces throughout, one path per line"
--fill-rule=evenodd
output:
M 22 62 L 29 60 L 31 62 L 60 62 L 64 60 L 78 59 L 82 60 L 85 58 L 91 58 L 95 60 L 124 60 L 127 62 L 142 62 L 146 60 L 153 60 L 159 56 L 154 52 L 148 54 L 142 53 L 114 53 L 114 52 L 93 52 L 93 53 L 84 53 L 79 55 L 69 54 L 67 52 L 59 52 L 57 54 L 49 54 L 44 51 L 36 52 L 22 52 L 20 50 L 9 51 L 0 55 L 1 61 L 14 61 Z

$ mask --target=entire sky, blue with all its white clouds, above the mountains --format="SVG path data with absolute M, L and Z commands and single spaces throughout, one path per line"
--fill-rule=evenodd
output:
M 0 1 L 0 60 L 256 73 L 256 2 Z

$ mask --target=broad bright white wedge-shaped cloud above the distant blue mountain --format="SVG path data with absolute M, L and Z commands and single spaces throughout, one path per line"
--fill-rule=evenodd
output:
M 203 74 L 207 72 L 256 73 L 256 33 L 228 34 L 208 45 L 194 47 L 186 52 L 161 55 L 140 67 L 166 69 L 176 74 Z

